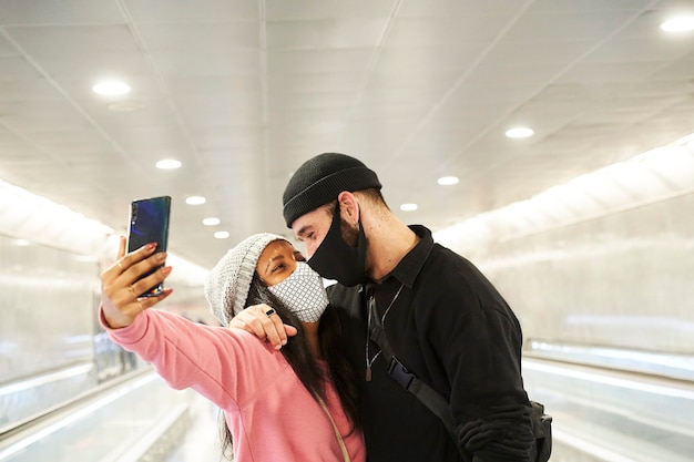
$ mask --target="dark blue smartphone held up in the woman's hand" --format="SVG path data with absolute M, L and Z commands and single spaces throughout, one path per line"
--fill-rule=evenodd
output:
M 171 217 L 171 197 L 159 196 L 136 199 L 130 204 L 130 228 L 127 232 L 127 251 L 139 249 L 149 243 L 156 243 L 156 251 L 165 251 L 169 244 L 169 219 Z M 163 265 L 162 265 L 163 266 Z M 143 276 L 146 277 L 156 269 Z M 140 297 L 155 297 L 164 290 L 159 284 Z

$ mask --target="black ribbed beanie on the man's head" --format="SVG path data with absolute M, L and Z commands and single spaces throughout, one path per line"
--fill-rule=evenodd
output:
M 324 153 L 304 162 L 282 195 L 287 227 L 302 215 L 337 198 L 343 191 L 380 189 L 376 173 L 346 154 Z

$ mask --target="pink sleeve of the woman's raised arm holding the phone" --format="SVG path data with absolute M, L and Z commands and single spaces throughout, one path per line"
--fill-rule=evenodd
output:
M 223 409 L 237 407 L 272 383 L 286 362 L 267 343 L 241 329 L 210 327 L 159 309 L 111 329 L 118 345 L 152 363 L 174 389 L 192 388 Z

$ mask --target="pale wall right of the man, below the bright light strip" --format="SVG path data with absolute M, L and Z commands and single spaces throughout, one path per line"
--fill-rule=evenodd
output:
M 511 304 L 527 339 L 694 352 L 694 194 L 467 256 Z

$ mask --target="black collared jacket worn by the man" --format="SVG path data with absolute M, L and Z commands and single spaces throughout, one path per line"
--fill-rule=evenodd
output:
M 328 288 L 341 338 L 361 380 L 369 462 L 524 462 L 533 438 L 530 402 L 521 379 L 522 335 L 501 295 L 467 259 L 421 242 L 374 286 L 379 317 L 400 361 L 451 404 L 465 459 L 446 428 L 386 371 L 376 343 L 367 347 L 366 287 Z

